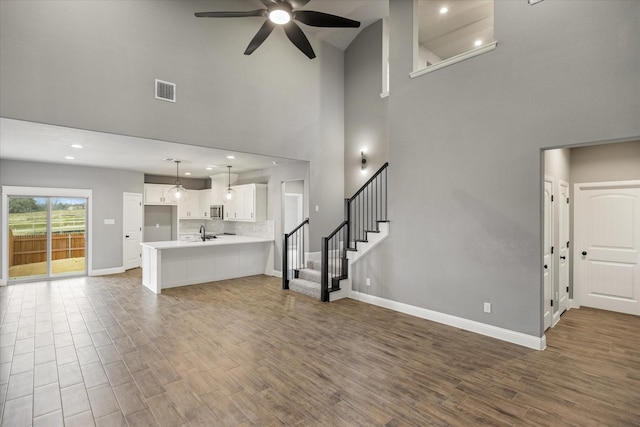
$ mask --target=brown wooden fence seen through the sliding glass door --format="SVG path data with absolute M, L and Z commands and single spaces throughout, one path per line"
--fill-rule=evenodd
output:
M 51 259 L 84 257 L 85 233 L 54 233 L 51 235 Z M 9 230 L 9 267 L 47 260 L 47 235 L 14 236 Z

